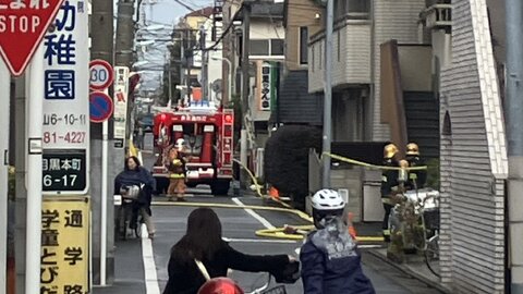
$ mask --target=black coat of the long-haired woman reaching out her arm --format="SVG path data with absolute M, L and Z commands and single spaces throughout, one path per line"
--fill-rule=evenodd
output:
M 227 277 L 228 269 L 242 271 L 268 271 L 272 274 L 289 265 L 287 255 L 246 255 L 234 250 L 228 244 L 219 249 L 212 260 L 202 260 L 210 278 Z M 205 278 L 193 259 L 169 259 L 169 280 L 163 294 L 196 294 L 205 283 Z

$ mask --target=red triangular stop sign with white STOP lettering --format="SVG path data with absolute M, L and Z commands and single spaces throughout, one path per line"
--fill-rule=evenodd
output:
M 63 0 L 0 0 L 0 53 L 21 75 L 57 16 Z

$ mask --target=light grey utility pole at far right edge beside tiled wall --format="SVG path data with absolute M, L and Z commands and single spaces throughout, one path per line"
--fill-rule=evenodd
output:
M 507 137 L 509 158 L 508 211 L 510 293 L 523 293 L 523 235 L 521 191 L 523 189 L 523 2 L 506 0 L 507 25 Z

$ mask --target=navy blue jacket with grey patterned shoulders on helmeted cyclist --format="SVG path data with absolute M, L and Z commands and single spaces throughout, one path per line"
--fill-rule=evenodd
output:
M 300 252 L 305 294 L 374 294 L 356 245 L 340 219 L 308 235 Z

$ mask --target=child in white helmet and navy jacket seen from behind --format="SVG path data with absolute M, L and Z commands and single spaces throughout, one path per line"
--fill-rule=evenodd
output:
M 344 222 L 345 203 L 333 189 L 320 189 L 312 198 L 314 225 L 300 252 L 305 294 L 374 294 L 363 273 L 355 240 Z

